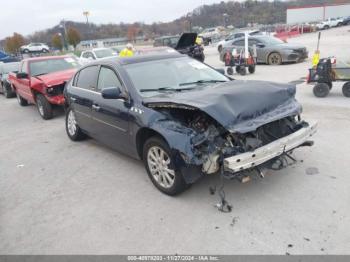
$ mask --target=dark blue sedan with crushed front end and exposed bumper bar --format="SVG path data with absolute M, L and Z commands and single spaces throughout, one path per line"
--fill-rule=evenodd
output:
M 289 84 L 232 80 L 169 52 L 100 60 L 67 83 L 66 131 L 144 162 L 153 184 L 176 195 L 206 174 L 243 179 L 286 167 L 311 146 Z

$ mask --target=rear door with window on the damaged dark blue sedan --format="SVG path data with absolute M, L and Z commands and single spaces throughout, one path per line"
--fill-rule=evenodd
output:
M 69 89 L 71 107 L 79 126 L 93 136 L 94 122 L 92 121 L 92 104 L 96 95 L 99 66 L 88 66 L 80 70 L 73 79 Z

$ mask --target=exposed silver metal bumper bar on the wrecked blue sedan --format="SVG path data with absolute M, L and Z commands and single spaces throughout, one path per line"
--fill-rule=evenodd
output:
M 273 158 L 292 151 L 304 144 L 317 130 L 317 123 L 262 146 L 252 152 L 239 154 L 224 159 L 224 169 L 230 173 L 238 173 L 259 166 Z

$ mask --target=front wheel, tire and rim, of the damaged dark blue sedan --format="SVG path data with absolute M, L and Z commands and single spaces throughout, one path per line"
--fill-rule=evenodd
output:
M 174 196 L 189 185 L 176 170 L 168 144 L 159 137 L 149 138 L 143 147 L 143 162 L 154 186 L 164 194 Z

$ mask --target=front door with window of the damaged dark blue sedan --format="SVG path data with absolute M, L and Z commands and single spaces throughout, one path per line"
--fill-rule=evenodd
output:
M 119 87 L 127 94 L 117 72 L 112 67 L 101 66 L 97 84 L 98 94 L 94 94 L 92 105 L 92 117 L 95 122 L 93 133 L 103 143 L 128 152 L 129 108 L 124 99 L 104 99 L 101 91 L 107 87 Z

